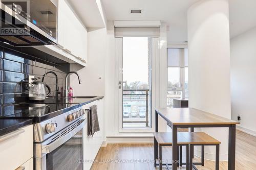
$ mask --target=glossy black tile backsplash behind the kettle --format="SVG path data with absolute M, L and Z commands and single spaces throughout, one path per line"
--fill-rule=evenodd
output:
M 34 54 L 33 57 L 31 54 L 26 55 L 24 49 L 22 52 L 14 49 L 0 46 L 0 104 L 3 106 L 3 110 L 0 109 L 0 112 L 5 113 L 8 113 L 8 110 L 13 110 L 11 104 L 27 102 L 29 76 L 34 76 L 37 81 L 41 81 L 42 75 L 48 71 L 54 71 L 58 76 L 57 89 L 60 90 L 61 87 L 62 89 L 65 87 L 65 77 L 69 71 L 69 63 L 45 61 L 37 57 L 42 55 L 40 52 Z M 59 59 L 52 59 L 51 61 L 58 62 Z M 44 82 L 51 87 L 51 96 L 55 96 L 57 83 L 55 76 L 48 74 Z

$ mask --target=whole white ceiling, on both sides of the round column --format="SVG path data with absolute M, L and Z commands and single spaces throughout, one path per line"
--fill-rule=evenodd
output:
M 167 43 L 187 41 L 187 9 L 198 0 L 101 0 L 108 20 L 161 20 L 169 26 Z M 256 26 L 255 0 L 229 0 L 230 36 Z M 142 9 L 142 14 L 131 14 Z

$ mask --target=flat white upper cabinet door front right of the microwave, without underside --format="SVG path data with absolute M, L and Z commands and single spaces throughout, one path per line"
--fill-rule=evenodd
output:
M 57 41 L 59 45 L 63 46 L 63 50 L 86 61 L 87 30 L 64 0 L 58 2 Z

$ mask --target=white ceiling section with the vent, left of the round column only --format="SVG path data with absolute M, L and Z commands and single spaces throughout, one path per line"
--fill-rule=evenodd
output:
M 169 26 L 168 43 L 187 40 L 187 9 L 198 0 L 101 0 L 108 20 L 161 20 Z M 131 14 L 142 9 L 142 14 Z

